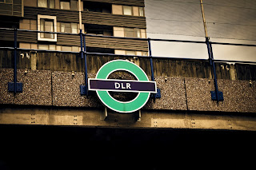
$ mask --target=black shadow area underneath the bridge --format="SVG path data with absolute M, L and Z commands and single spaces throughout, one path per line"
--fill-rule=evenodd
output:
M 249 168 L 255 132 L 0 126 L 0 169 Z

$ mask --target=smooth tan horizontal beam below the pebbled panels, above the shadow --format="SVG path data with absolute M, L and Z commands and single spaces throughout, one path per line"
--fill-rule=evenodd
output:
M 105 120 L 105 121 L 103 121 Z M 0 109 L 2 125 L 68 125 L 106 128 L 195 128 L 256 131 L 253 115 L 141 110 L 118 114 L 104 109 L 8 106 Z

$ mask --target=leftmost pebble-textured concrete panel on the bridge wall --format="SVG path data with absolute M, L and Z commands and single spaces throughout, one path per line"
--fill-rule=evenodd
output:
M 13 69 L 0 69 L 0 104 L 51 105 L 51 73 L 45 70 L 18 69 L 17 81 L 22 82 L 22 93 L 8 92 L 8 82 L 13 82 Z

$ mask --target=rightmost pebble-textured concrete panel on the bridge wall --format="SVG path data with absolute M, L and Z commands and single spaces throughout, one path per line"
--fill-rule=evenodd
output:
M 212 101 L 210 91 L 214 81 L 202 78 L 186 78 L 186 97 L 189 110 L 221 112 L 256 112 L 255 81 L 218 80 L 224 101 Z

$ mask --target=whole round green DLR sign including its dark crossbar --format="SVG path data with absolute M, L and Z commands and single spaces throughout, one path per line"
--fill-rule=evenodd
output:
M 138 81 L 122 81 L 107 79 L 110 73 L 115 71 L 126 71 L 132 73 Z M 154 89 L 144 88 L 153 87 Z M 95 90 L 99 99 L 108 108 L 118 113 L 132 113 L 141 109 L 150 97 L 150 93 L 155 93 L 156 84 L 154 81 L 149 81 L 146 73 L 135 65 L 133 62 L 125 60 L 109 61 L 98 70 L 95 79 L 90 79 L 89 89 Z M 119 92 L 138 92 L 137 97 L 132 101 L 117 101 L 110 96 L 109 91 Z

